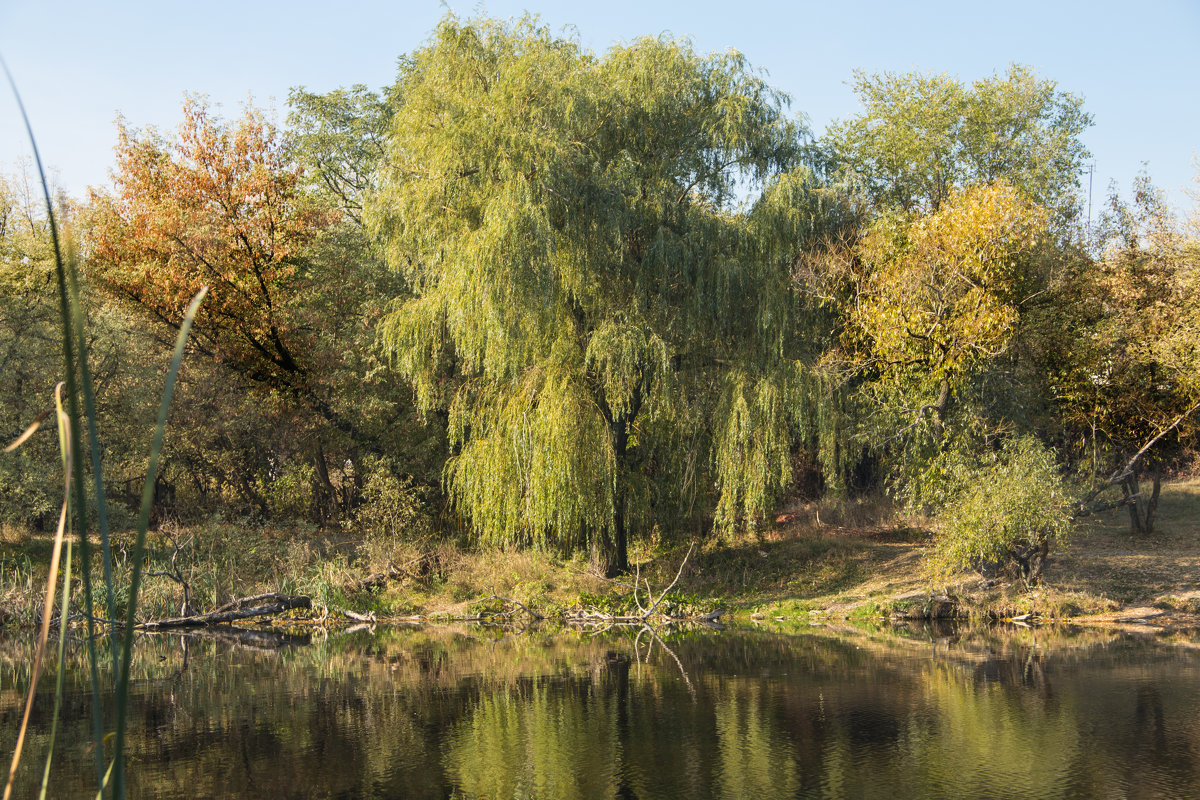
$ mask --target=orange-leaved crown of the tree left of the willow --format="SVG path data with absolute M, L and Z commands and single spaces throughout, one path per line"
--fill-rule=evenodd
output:
M 299 354 L 308 248 L 337 221 L 300 190 L 281 137 L 247 108 L 224 122 L 196 98 L 174 139 L 120 124 L 114 191 L 91 192 L 91 272 L 178 326 L 202 285 L 197 347 L 257 381 L 318 399 Z

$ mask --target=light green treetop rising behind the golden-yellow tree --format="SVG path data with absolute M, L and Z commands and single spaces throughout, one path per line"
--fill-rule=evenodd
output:
M 856 73 L 863 113 L 830 126 L 834 166 L 870 201 L 936 211 L 955 188 L 1004 180 L 1069 221 L 1090 154 L 1082 100 L 1013 65 L 971 86 L 946 74 Z

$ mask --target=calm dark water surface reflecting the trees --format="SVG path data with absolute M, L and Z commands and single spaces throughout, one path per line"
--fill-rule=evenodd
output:
M 0 642 L 5 757 L 30 661 Z M 1108 631 L 161 636 L 136 672 L 134 798 L 1200 798 L 1200 650 Z M 83 681 L 56 798 L 95 793 Z

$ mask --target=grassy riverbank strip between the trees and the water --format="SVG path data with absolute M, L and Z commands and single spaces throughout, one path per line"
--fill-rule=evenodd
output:
M 452 619 L 524 609 L 637 613 L 678 577 L 660 612 L 716 609 L 778 621 L 970 616 L 1072 620 L 1140 628 L 1200 628 L 1200 479 L 1165 485 L 1156 533 L 1133 535 L 1121 512 L 1080 524 L 1052 553 L 1042 587 L 964 573 L 935 583 L 924 570 L 928 521 L 886 503 L 794 504 L 756 536 L 715 541 L 684 563 L 685 545 L 635 549 L 637 571 L 620 581 L 589 572 L 582 558 L 452 542 L 367 540 L 311 527 L 232 522 L 151 535 L 143 619 L 268 591 L 312 597 L 316 614 Z M 0 618 L 31 622 L 41 604 L 49 537 L 5 530 L 0 539 Z M 118 554 L 127 549 L 118 537 Z M 118 578 L 124 572 L 118 558 Z M 637 583 L 635 599 L 631 587 Z M 505 599 L 504 601 L 497 597 Z M 510 601 L 510 602 L 509 602 Z M 518 606 L 520 604 L 520 606 Z

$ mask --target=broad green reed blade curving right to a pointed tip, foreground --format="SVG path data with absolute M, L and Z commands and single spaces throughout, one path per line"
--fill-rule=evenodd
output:
M 158 476 L 158 457 L 162 455 L 162 438 L 167 428 L 167 414 L 170 410 L 170 398 L 175 393 L 175 380 L 179 378 L 179 366 L 184 361 L 184 350 L 187 344 L 187 335 L 192 330 L 196 320 L 196 312 L 200 308 L 200 301 L 208 294 L 209 288 L 202 288 L 184 314 L 184 323 L 179 326 L 179 336 L 175 339 L 175 354 L 170 359 L 170 369 L 167 371 L 167 385 L 162 390 L 162 402 L 158 404 L 158 423 L 154 429 L 154 440 L 150 444 L 150 463 L 146 465 L 145 486 L 142 489 L 142 511 L 138 515 L 138 536 L 133 545 L 133 569 L 130 577 L 130 601 L 125 612 L 125 640 L 121 648 L 121 667 L 116 679 L 116 740 L 113 747 L 113 796 L 125 796 L 125 721 L 130 693 L 130 664 L 133 657 L 133 626 L 137 624 L 138 588 L 142 583 L 142 561 L 145 557 L 146 529 L 150 527 L 150 506 L 154 504 L 154 486 Z

